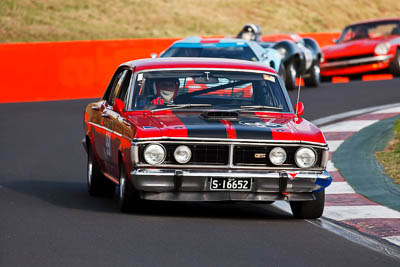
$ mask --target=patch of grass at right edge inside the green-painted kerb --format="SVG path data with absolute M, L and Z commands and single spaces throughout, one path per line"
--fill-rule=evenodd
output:
M 393 126 L 394 138 L 382 152 L 377 152 L 379 163 L 385 168 L 385 174 L 400 184 L 400 119 Z

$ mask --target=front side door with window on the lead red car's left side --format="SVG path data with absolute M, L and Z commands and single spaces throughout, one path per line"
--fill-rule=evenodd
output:
M 121 115 L 113 110 L 113 106 L 115 99 L 118 98 L 124 100 L 123 98 L 125 97 L 130 77 L 131 71 L 129 69 L 121 69 L 117 74 L 110 96 L 102 113 L 103 126 L 106 129 L 104 136 L 105 169 L 109 175 L 116 179 L 119 177 L 118 149 L 121 143 L 121 133 L 118 132 L 118 129 L 120 129 L 118 124 L 121 123 Z

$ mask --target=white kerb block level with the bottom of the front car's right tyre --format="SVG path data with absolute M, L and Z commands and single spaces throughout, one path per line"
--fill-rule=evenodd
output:
M 398 219 L 400 212 L 380 205 L 326 206 L 323 216 L 337 221 L 373 218 Z

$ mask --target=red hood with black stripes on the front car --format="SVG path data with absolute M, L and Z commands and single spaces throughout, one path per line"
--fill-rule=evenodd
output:
M 212 138 L 257 141 L 304 141 L 325 144 L 321 131 L 293 115 L 241 113 L 235 120 L 206 119 L 198 112 L 128 116 L 135 125 L 135 137 Z

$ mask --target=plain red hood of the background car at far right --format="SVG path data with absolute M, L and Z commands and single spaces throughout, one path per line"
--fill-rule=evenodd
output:
M 361 39 L 329 45 L 322 48 L 325 58 L 347 57 L 354 55 L 373 54 L 375 47 L 383 42 L 389 42 L 392 38 Z

